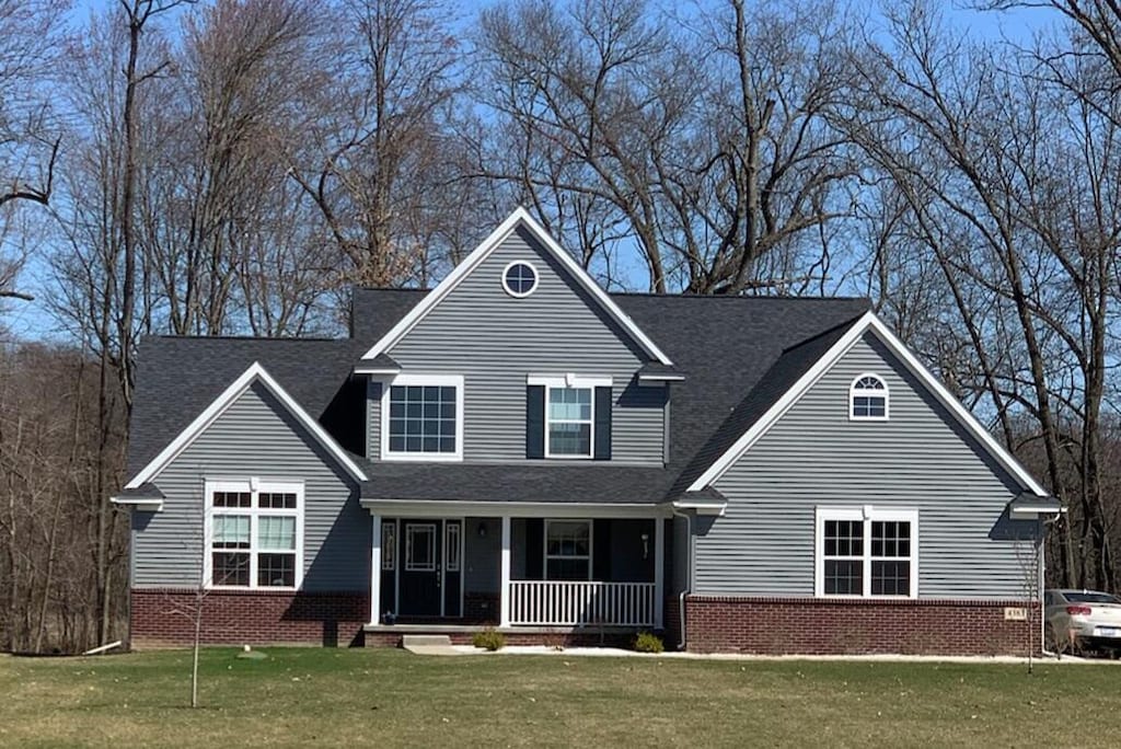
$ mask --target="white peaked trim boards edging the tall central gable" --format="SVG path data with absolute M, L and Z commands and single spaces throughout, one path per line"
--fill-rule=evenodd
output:
M 637 324 L 628 316 L 619 305 L 612 300 L 612 298 L 600 288 L 587 271 L 580 267 L 580 263 L 571 255 L 564 251 L 556 240 L 553 239 L 545 229 L 537 223 L 526 209 L 518 206 L 518 209 L 511 213 L 506 221 L 499 224 L 498 229 L 492 231 L 490 235 L 484 239 L 479 247 L 471 251 L 463 262 L 457 265 L 447 277 L 442 280 L 436 288 L 434 288 L 429 294 L 425 295 L 415 307 L 413 307 L 407 315 L 401 317 L 396 325 L 393 325 L 381 339 L 373 344 L 373 346 L 365 352 L 362 357 L 364 360 L 370 360 L 378 354 L 386 353 L 392 348 L 398 341 L 400 341 L 417 323 L 419 323 L 424 317 L 437 305 L 444 297 L 446 297 L 451 292 L 460 285 L 464 278 L 466 278 L 471 271 L 473 271 L 483 260 L 485 260 L 491 252 L 493 252 L 499 244 L 501 244 L 507 237 L 509 237 L 518 224 L 524 224 L 526 229 L 534 234 L 541 247 L 546 249 L 564 268 L 572 275 L 576 281 L 584 287 L 584 289 L 592 295 L 600 306 L 611 315 L 615 322 L 638 343 L 643 351 L 646 351 L 650 357 L 658 360 L 663 364 L 673 364 L 661 349 L 647 336 L 646 333 L 639 329 Z

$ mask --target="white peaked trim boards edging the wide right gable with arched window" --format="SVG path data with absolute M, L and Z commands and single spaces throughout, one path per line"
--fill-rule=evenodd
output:
M 1019 480 L 1022 486 L 1030 492 L 1039 496 L 1047 497 L 1048 492 L 1034 479 L 1028 471 L 1020 465 L 1020 463 L 1012 457 L 1011 454 L 1004 447 L 997 442 L 997 440 L 989 433 L 984 426 L 978 422 L 976 417 L 971 414 L 965 406 L 963 406 L 957 398 L 949 394 L 948 390 L 930 373 L 926 367 L 923 366 L 915 354 L 908 351 L 907 346 L 904 345 L 902 341 L 896 337 L 896 334 L 888 329 L 883 322 L 876 316 L 874 313 L 865 313 L 859 321 L 853 323 L 841 339 L 834 343 L 825 354 L 822 355 L 817 362 L 814 363 L 800 378 L 795 382 L 789 390 L 782 394 L 782 397 L 778 399 L 767 413 L 763 414 L 754 424 L 752 424 L 747 432 L 744 432 L 735 443 L 732 444 L 724 453 L 717 457 L 712 465 L 710 465 L 704 473 L 702 473 L 686 491 L 701 491 L 705 487 L 717 481 L 724 473 L 735 464 L 740 457 L 743 456 L 751 446 L 759 441 L 768 431 L 778 422 L 779 418 L 786 414 L 787 410 L 794 404 L 802 398 L 803 395 L 809 388 L 812 388 L 817 380 L 822 378 L 832 367 L 835 364 L 844 354 L 855 345 L 856 341 L 864 335 L 865 332 L 871 331 L 880 341 L 888 346 L 892 354 L 895 354 L 904 364 L 911 371 L 918 380 L 927 387 L 927 389 L 934 394 L 934 396 L 949 410 L 949 413 L 961 423 L 967 432 L 970 432 L 981 446 L 1000 463 L 1011 475 Z

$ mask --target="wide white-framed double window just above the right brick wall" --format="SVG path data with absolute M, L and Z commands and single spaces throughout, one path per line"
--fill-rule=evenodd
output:
M 818 507 L 816 526 L 816 595 L 917 595 L 917 510 Z

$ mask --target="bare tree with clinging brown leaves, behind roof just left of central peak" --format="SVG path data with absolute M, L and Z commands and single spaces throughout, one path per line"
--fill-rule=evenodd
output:
M 462 85 L 451 20 L 438 0 L 337 8 L 341 44 L 324 117 L 293 149 L 290 175 L 318 207 L 348 280 L 416 279 L 455 205 L 444 189 L 456 176 L 447 123 Z

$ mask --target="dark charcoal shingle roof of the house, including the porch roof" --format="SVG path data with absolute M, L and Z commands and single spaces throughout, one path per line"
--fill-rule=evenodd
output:
M 352 453 L 364 446 L 364 386 L 353 366 L 427 292 L 355 289 L 353 339 L 148 337 L 131 423 L 139 471 L 254 361 Z M 671 387 L 663 468 L 379 463 L 377 499 L 642 501 L 673 498 L 707 468 L 860 315 L 867 299 L 669 296 L 613 298 L 685 376 Z

